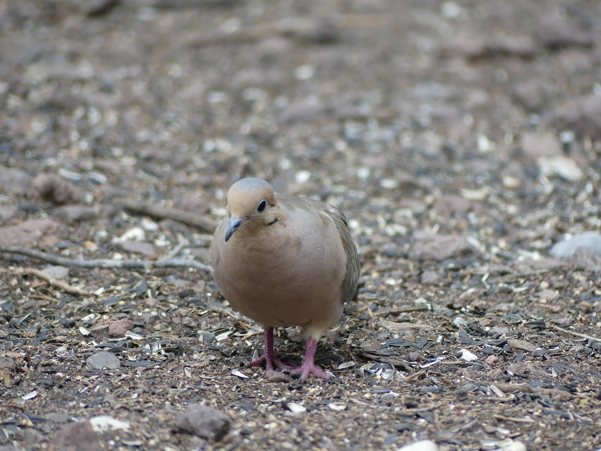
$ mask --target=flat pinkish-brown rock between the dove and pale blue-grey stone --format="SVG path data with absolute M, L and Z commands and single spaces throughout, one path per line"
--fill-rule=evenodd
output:
M 475 253 L 474 247 L 464 236 L 430 235 L 419 233 L 413 236 L 409 249 L 409 258 L 423 262 L 424 260 L 443 260 L 465 257 Z

